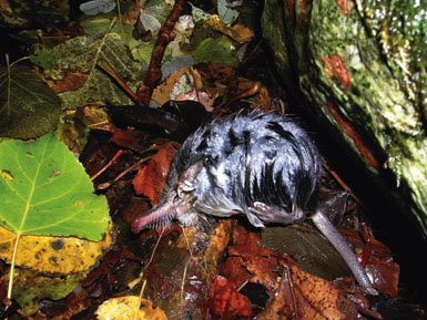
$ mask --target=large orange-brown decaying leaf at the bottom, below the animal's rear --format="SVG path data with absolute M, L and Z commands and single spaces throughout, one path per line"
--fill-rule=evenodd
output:
M 260 239 L 258 234 L 238 226 L 234 231 L 235 245 L 228 248 L 230 257 L 222 268 L 235 287 L 253 282 L 265 288 L 270 300 L 257 319 L 287 319 L 293 314 L 306 320 L 346 319 L 348 312 L 356 310 L 342 299 L 343 289 L 304 271 L 292 259 L 260 247 Z M 283 270 L 281 277 L 278 270 Z M 346 311 L 342 310 L 343 303 L 349 303 Z

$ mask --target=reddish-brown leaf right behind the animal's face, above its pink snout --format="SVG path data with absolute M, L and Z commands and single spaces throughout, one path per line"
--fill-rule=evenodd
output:
M 138 195 L 144 194 L 156 205 L 157 197 L 166 184 L 172 158 L 176 153 L 176 144 L 167 142 L 150 159 L 150 163 L 142 167 L 133 178 L 133 187 Z

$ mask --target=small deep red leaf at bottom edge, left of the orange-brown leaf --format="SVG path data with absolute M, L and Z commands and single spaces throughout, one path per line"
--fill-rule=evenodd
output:
M 250 299 L 240 293 L 224 277 L 215 278 L 210 297 L 210 310 L 221 319 L 251 316 Z

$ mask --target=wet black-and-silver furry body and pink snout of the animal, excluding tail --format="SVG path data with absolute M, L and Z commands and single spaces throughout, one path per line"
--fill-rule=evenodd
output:
M 189 136 L 173 159 L 160 205 L 133 230 L 173 218 L 190 225 L 199 213 L 243 213 L 255 227 L 294 223 L 305 217 L 321 174 L 315 145 L 289 117 L 258 111 L 230 116 Z M 260 203 L 278 214 L 260 211 Z

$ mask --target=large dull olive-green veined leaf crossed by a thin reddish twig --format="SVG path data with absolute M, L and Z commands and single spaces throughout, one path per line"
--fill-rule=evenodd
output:
M 89 75 L 82 87 L 59 94 L 63 109 L 133 104 L 126 93 L 96 66 L 99 61 L 105 61 L 132 90 L 136 90 L 141 82 L 141 66 L 132 60 L 118 34 L 109 34 L 105 39 L 78 37 L 57 45 L 55 50 L 61 52 L 63 58 L 57 63 L 54 72 L 45 71 L 47 79 L 60 81 L 70 71 Z

